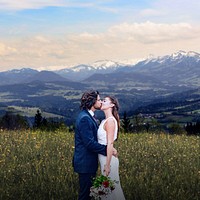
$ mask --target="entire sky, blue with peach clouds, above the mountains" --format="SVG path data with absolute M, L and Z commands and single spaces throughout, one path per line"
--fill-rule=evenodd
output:
M 200 53 L 197 0 L 0 0 L 0 71 Z

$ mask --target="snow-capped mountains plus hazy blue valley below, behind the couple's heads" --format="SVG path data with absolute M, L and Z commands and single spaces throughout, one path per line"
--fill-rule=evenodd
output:
M 172 99 L 199 102 L 199 86 L 200 54 L 192 51 L 150 57 L 134 65 L 103 60 L 57 71 L 13 69 L 0 72 L 0 114 L 11 106 L 38 107 L 72 122 L 81 94 L 91 88 L 102 96 L 116 96 L 122 113 Z

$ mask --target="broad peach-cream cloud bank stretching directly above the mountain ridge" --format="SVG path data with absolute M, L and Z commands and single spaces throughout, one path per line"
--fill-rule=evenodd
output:
M 122 23 L 101 33 L 59 37 L 36 35 L 0 43 L 1 66 L 44 68 L 161 55 L 177 50 L 200 51 L 200 27 L 188 23 Z

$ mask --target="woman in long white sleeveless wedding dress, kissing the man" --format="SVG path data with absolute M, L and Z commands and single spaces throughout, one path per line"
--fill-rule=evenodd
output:
M 113 192 L 105 198 L 107 200 L 125 199 L 119 179 L 119 160 L 112 155 L 114 141 L 117 139 L 119 130 L 118 109 L 119 104 L 115 98 L 108 96 L 102 101 L 101 110 L 105 113 L 105 119 L 101 122 L 97 132 L 98 143 L 107 145 L 107 156 L 98 155 L 101 173 L 117 181 Z

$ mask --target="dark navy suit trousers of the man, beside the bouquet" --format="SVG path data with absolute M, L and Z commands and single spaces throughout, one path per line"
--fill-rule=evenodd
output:
M 79 173 L 79 200 L 90 200 L 90 188 L 92 187 L 92 179 L 96 173 Z

